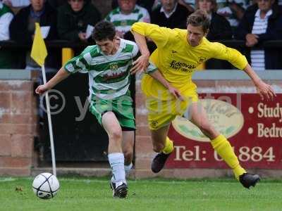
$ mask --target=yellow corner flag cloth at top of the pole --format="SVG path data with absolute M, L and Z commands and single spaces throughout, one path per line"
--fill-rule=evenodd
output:
M 47 49 L 42 38 L 39 23 L 35 23 L 35 39 L 33 40 L 30 57 L 41 67 L 44 65 L 44 60 L 47 57 Z

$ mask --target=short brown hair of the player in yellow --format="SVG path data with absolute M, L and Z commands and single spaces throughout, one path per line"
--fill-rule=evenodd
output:
M 209 25 L 210 25 L 210 20 L 209 16 L 205 11 L 197 10 L 191 15 L 189 15 L 187 19 L 187 25 L 192 25 L 192 26 L 202 26 L 202 30 L 204 33 L 206 33 L 209 30 Z

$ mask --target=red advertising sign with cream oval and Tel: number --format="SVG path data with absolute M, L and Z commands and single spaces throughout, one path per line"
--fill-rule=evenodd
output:
M 282 169 L 282 94 L 262 101 L 258 94 L 200 94 L 212 125 L 230 141 L 247 168 Z M 189 117 L 188 117 L 189 119 Z M 187 118 L 176 117 L 168 136 L 174 142 L 166 168 L 228 168 Z

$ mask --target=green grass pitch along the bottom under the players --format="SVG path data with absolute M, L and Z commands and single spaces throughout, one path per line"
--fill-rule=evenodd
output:
M 247 190 L 233 179 L 130 180 L 128 198 L 112 198 L 107 179 L 60 178 L 51 200 L 32 192 L 32 178 L 0 177 L 0 210 L 282 210 L 282 182 Z

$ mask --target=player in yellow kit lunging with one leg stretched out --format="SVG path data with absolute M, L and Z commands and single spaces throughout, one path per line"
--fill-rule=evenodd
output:
M 250 188 L 257 184 L 259 175 L 248 174 L 240 166 L 229 141 L 209 123 L 207 114 L 200 103 L 197 103 L 197 87 L 192 82 L 192 73 L 198 65 L 209 58 L 228 60 L 250 76 L 262 99 L 273 99 L 276 94 L 269 84 L 262 82 L 239 51 L 218 42 L 208 41 L 204 37 L 208 30 L 209 18 L 207 13 L 200 10 L 188 17 L 187 30 L 171 30 L 149 23 L 135 23 L 132 26 L 135 41 L 142 55 L 135 60 L 131 71 L 134 73 L 145 70 L 150 59 L 159 68 L 164 78 L 180 91 L 183 98 L 181 101 L 175 98 L 162 84 L 149 75 L 142 78 L 142 91 L 147 98 L 147 120 L 152 134 L 153 149 L 158 153 L 152 161 L 152 171 L 159 172 L 173 151 L 173 142 L 167 136 L 171 121 L 176 115 L 189 113 L 190 121 L 209 137 L 214 150 L 231 167 L 235 178 L 245 188 Z M 157 49 L 151 56 L 149 56 L 145 37 L 152 39 L 157 45 Z

